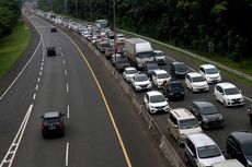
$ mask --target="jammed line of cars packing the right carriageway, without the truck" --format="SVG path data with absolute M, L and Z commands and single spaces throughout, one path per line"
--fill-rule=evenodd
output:
M 95 29 L 88 25 L 90 31 Z M 99 44 L 110 39 L 107 34 L 100 32 L 96 41 Z M 87 33 L 81 33 L 85 37 Z M 95 34 L 95 33 L 94 33 Z M 121 36 L 123 36 L 121 34 Z M 85 38 L 89 40 L 87 36 Z M 92 38 L 92 37 L 91 37 Z M 100 40 L 99 40 L 100 38 Z M 108 39 L 107 39 L 108 38 Z M 165 64 L 165 55 L 161 50 L 154 50 L 154 62 L 146 63 L 144 71 L 130 65 L 125 57 L 123 40 L 121 49 L 116 48 L 116 38 L 110 40 L 105 49 L 98 49 L 104 53 L 111 63 L 122 73 L 124 80 L 131 85 L 136 92 L 147 91 L 144 95 L 144 106 L 151 114 L 168 114 L 168 131 L 174 136 L 179 145 L 184 145 L 184 158 L 187 163 L 197 167 L 218 166 L 226 158 L 219 146 L 207 134 L 205 129 L 222 128 L 225 126 L 224 117 L 219 109 L 206 99 L 195 99 L 192 102 L 190 109 L 171 108 L 169 100 L 184 99 L 184 85 L 192 93 L 209 92 L 209 84 L 216 84 L 214 97 L 224 104 L 225 107 L 244 105 L 244 98 L 239 88 L 229 82 L 221 82 L 220 71 L 213 64 L 202 64 L 198 72 L 190 72 L 184 62 L 171 62 L 170 71 L 160 69 L 159 64 Z M 121 60 L 124 60 L 124 65 Z M 118 65 L 121 64 L 121 65 Z M 181 80 L 184 79 L 184 83 Z M 153 86 L 154 85 L 154 86 Z M 153 91 L 157 90 L 157 91 Z M 236 158 L 238 166 L 252 166 L 252 133 L 247 131 L 231 132 L 227 139 L 226 151 L 228 158 Z M 242 164 L 242 165 L 241 165 Z

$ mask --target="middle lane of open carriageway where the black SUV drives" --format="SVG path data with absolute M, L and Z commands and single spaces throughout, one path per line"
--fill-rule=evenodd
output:
M 54 36 L 50 36 L 48 28 L 38 29 L 45 39 L 45 45 L 54 44 Z M 44 140 L 41 124 L 41 116 L 44 112 L 66 110 L 64 63 L 61 57 L 46 57 L 45 53 L 39 62 L 41 71 L 37 77 L 33 112 L 13 166 L 64 166 L 65 164 L 66 140 Z

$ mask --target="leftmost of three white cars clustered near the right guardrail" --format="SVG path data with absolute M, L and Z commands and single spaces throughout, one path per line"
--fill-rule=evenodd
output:
M 193 92 L 209 91 L 209 85 L 206 79 L 198 72 L 188 72 L 185 75 L 185 86 Z

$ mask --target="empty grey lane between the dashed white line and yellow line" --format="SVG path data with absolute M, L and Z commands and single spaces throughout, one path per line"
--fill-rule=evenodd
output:
M 126 166 L 93 76 L 75 46 L 60 33 L 57 37 L 68 67 L 70 129 L 66 135 L 70 144 L 69 163 L 72 166 Z

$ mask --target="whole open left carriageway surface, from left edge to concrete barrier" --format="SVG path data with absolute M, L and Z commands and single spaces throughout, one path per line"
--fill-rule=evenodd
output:
M 1 167 L 169 167 L 92 50 L 50 33 L 39 17 L 31 21 L 41 40 L 0 99 Z M 56 57 L 46 56 L 49 46 Z M 65 136 L 43 139 L 41 116 L 56 110 L 66 115 Z

